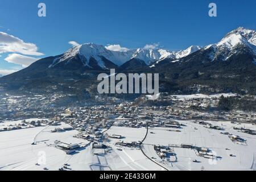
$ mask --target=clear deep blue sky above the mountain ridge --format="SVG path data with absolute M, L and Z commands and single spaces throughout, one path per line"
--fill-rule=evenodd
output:
M 47 6 L 47 16 L 43 18 L 38 16 L 40 2 Z M 210 2 L 217 4 L 216 18 L 208 16 Z M 29 46 L 33 52 L 1 53 L 0 49 L 0 74 L 1 69 L 6 72 L 27 66 L 6 61 L 11 54 L 21 55 L 20 60 L 26 59 L 24 56 L 39 59 L 59 55 L 71 48 L 70 41 L 120 44 L 127 48 L 159 43 L 162 48 L 179 50 L 216 43 L 239 26 L 256 30 L 255 0 L 1 0 L 0 3 L 0 32 L 13 35 L 21 41 L 17 40 L 21 46 Z M 11 56 L 9 60 L 17 57 Z

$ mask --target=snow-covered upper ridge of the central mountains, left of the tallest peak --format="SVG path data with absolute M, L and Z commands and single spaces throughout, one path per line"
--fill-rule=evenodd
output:
M 74 58 L 79 58 L 85 67 L 90 67 L 90 60 L 94 59 L 101 68 L 106 68 L 105 59 L 111 61 L 117 66 L 125 64 L 129 60 L 138 59 L 144 61 L 146 65 L 151 65 L 156 61 L 163 60 L 165 58 L 180 59 L 181 57 L 188 56 L 189 54 L 199 50 L 199 46 L 191 46 L 184 51 L 168 51 L 166 49 L 133 49 L 126 52 L 123 51 L 111 51 L 106 47 L 94 44 L 86 43 L 79 46 L 75 46 L 65 52 L 61 57 L 56 58 L 49 66 L 55 67 L 57 64 L 65 63 L 69 64 Z

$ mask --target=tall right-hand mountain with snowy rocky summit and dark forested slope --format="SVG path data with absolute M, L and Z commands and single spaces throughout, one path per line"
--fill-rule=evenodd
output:
M 253 30 L 237 28 L 191 55 L 162 60 L 151 72 L 162 73 L 164 81 L 174 84 L 173 91 L 255 94 L 255 35 Z

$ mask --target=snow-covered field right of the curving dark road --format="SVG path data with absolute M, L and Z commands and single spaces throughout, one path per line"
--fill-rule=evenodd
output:
M 250 124 L 234 125 L 230 122 L 210 122 L 213 125 L 224 127 L 225 131 L 230 134 L 239 135 L 243 139 L 246 139 L 246 145 L 241 145 L 232 142 L 227 135 L 220 134 L 221 131 L 207 129 L 202 125 L 193 123 L 192 121 L 180 121 L 184 123 L 183 129 L 180 133 L 173 131 L 167 131 L 166 128 L 154 128 L 149 132 L 154 134 L 148 134 L 148 137 L 144 141 L 144 151 L 148 156 L 155 156 L 154 148 L 152 144 L 160 144 L 168 146 L 169 144 L 192 144 L 197 147 L 207 147 L 220 157 L 217 160 L 209 160 L 197 156 L 195 151 L 186 148 L 176 148 L 174 151 L 177 155 L 177 162 L 166 164 L 166 166 L 172 170 L 255 170 L 256 164 L 256 136 L 245 133 L 240 133 L 233 129 L 236 127 L 246 127 L 250 129 L 256 129 L 255 126 Z M 208 122 L 208 121 L 207 121 Z M 151 148 L 150 148 L 151 146 Z M 226 150 L 229 149 L 229 150 Z M 230 155 L 234 156 L 230 156 Z M 157 158 L 158 159 L 158 158 Z M 158 159 L 160 160 L 160 159 Z M 193 160 L 197 160 L 200 163 L 193 163 Z

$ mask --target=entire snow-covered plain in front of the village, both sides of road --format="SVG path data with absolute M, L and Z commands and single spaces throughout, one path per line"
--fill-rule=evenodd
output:
M 230 122 L 213 122 L 213 125 L 224 127 L 225 131 L 247 140 L 246 145 L 233 143 L 227 135 L 221 131 L 207 129 L 193 121 L 179 121 L 185 126 L 181 132 L 167 131 L 166 128 L 150 128 L 146 140 L 143 142 L 143 154 L 139 148 L 125 148 L 115 146 L 116 142 L 139 142 L 146 135 L 146 128 L 111 127 L 106 133 L 122 135 L 122 139 L 111 139 L 105 144 L 112 150 L 102 155 L 93 155 L 92 144 L 83 139 L 75 138 L 78 131 L 65 131 L 63 133 L 51 133 L 55 127 L 34 127 L 30 129 L 0 132 L 0 170 L 58 170 L 68 163 L 72 170 L 130 170 L 148 171 L 164 170 L 251 170 L 256 169 L 256 136 L 240 133 L 233 129 L 246 127 L 256 130 L 256 126 L 249 124 L 234 125 Z M 15 123 L 15 122 L 14 122 Z M 9 123 L 8 123 L 9 124 Z M 55 148 L 55 140 L 64 143 L 89 144 L 73 155 L 67 155 L 64 151 Z M 35 142 L 36 145 L 32 145 Z M 174 148 L 177 162 L 163 162 L 156 154 L 154 144 L 168 146 L 182 143 L 193 144 L 198 147 L 207 147 L 220 158 L 217 161 L 197 156 L 195 151 L 185 148 Z M 226 150 L 229 148 L 229 150 Z M 121 150 L 120 150 L 121 149 Z M 234 156 L 231 157 L 230 154 Z M 150 159 L 154 158 L 154 162 Z M 193 160 L 200 163 L 193 163 Z M 36 163 L 42 163 L 36 166 Z M 159 165 L 160 164 L 160 165 Z

